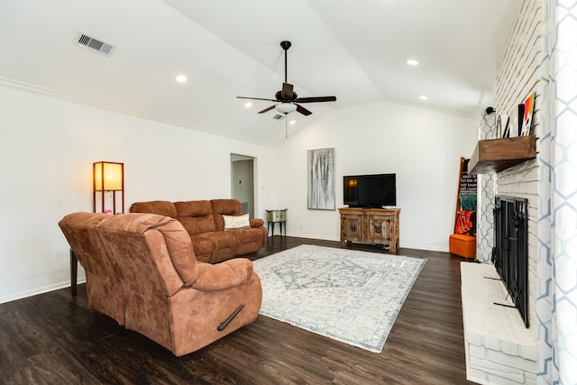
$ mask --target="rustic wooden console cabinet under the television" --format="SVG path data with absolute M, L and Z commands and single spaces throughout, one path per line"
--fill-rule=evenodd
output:
M 341 246 L 345 243 L 389 245 L 398 251 L 398 215 L 400 208 L 339 208 Z

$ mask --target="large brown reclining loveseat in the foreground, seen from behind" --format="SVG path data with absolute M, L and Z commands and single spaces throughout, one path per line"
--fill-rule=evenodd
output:
M 86 270 L 90 307 L 177 356 L 258 316 L 262 289 L 252 262 L 197 261 L 190 236 L 173 218 L 74 213 L 59 225 Z

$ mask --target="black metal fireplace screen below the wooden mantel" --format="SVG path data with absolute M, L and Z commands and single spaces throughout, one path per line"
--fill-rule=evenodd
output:
M 527 199 L 497 196 L 494 215 L 492 261 L 525 326 L 529 327 Z

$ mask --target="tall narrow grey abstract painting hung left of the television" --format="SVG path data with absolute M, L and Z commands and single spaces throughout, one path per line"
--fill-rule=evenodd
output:
M 307 151 L 309 210 L 334 210 L 334 148 Z

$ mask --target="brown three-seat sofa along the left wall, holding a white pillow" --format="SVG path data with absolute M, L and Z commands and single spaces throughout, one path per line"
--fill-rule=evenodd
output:
M 247 228 L 225 228 L 224 216 L 243 215 L 243 206 L 237 199 L 136 202 L 130 207 L 130 212 L 177 219 L 190 235 L 198 261 L 215 263 L 256 252 L 268 239 L 261 218 L 248 220 Z

